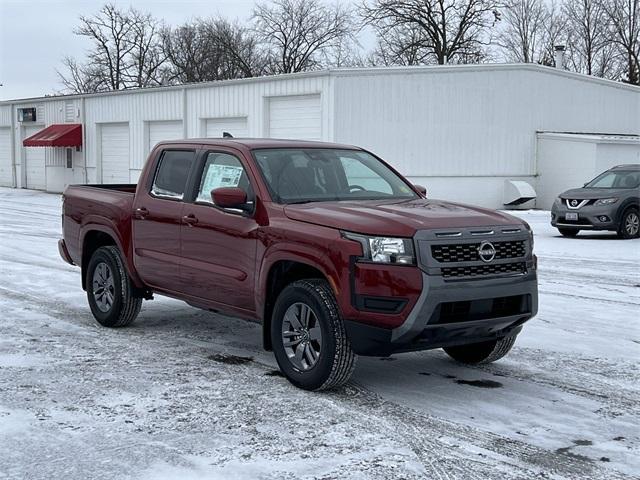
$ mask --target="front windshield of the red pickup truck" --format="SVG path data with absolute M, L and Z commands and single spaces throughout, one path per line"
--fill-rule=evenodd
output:
M 278 203 L 417 197 L 401 177 L 366 152 L 282 148 L 254 150 L 253 155 Z

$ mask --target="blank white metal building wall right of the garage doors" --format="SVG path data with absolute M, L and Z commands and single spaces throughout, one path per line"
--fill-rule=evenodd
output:
M 336 141 L 371 149 L 433 196 L 493 208 L 505 179 L 540 185 L 537 132 L 640 133 L 640 89 L 539 66 L 337 72 L 335 102 Z

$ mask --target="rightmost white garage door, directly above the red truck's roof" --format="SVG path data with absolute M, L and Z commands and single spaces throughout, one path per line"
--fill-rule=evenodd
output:
M 268 133 L 271 138 L 322 140 L 320 95 L 272 97 Z

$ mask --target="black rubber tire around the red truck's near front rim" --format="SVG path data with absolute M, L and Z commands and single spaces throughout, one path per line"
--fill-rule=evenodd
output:
M 315 363 L 312 366 L 307 365 L 307 369 L 295 365 L 297 349 L 302 348 L 301 344 L 285 347 L 283 333 L 286 331 L 290 339 L 291 334 L 294 334 L 293 331 L 287 330 L 288 320 L 285 319 L 285 314 L 299 305 L 310 308 L 314 316 L 310 322 L 314 322 L 322 334 L 321 343 L 315 344 L 319 352 L 316 354 Z M 305 337 L 309 345 L 314 342 L 308 335 L 310 330 L 307 330 Z M 282 373 L 296 387 L 305 390 L 318 391 L 340 387 L 349 380 L 356 365 L 356 355 L 351 350 L 335 297 L 324 280 L 299 280 L 288 285 L 280 293 L 271 318 L 271 341 Z M 297 341 L 301 340 L 298 338 Z M 304 343 L 305 341 L 302 341 L 302 344 Z M 290 358 L 285 348 L 289 349 L 290 354 L 296 349 L 295 358 Z

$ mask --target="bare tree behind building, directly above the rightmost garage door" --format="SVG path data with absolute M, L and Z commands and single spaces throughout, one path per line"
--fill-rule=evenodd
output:
M 320 0 L 273 0 L 253 11 L 258 39 L 270 57 L 272 73 L 317 68 L 322 55 L 353 36 L 352 14 L 340 4 Z

